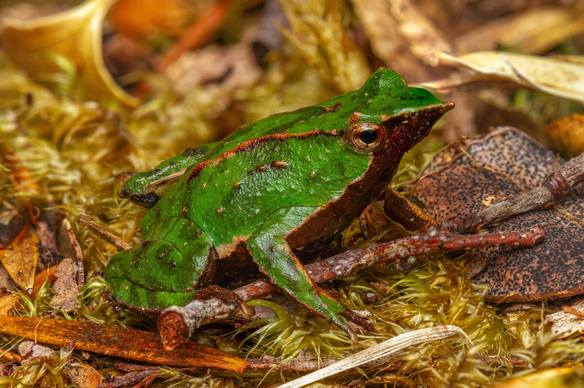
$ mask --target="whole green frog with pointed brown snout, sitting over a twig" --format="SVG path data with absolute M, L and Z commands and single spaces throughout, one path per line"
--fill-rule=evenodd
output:
M 142 245 L 107 266 L 114 296 L 148 313 L 184 306 L 210 284 L 218 259 L 249 255 L 297 303 L 349 331 L 340 316 L 355 314 L 312 282 L 297 255 L 326 248 L 452 107 L 380 68 L 357 91 L 266 117 L 134 175 L 120 196 L 153 207 Z

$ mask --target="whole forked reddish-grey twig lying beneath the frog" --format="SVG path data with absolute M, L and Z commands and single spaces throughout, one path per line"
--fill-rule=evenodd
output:
M 536 226 L 528 233 L 498 233 L 488 235 L 465 235 L 474 233 L 488 224 L 506 219 L 515 214 L 549 206 L 570 188 L 584 180 L 584 154 L 572 158 L 557 171 L 550 174 L 538 188 L 528 193 L 509 197 L 473 216 L 453 217 L 440 226 L 425 233 L 398 240 L 372 245 L 362 250 L 344 252 L 323 261 L 306 266 L 315 282 L 336 276 L 348 276 L 357 269 L 385 261 L 422 253 L 447 253 L 460 249 L 471 249 L 491 245 L 533 245 L 544 237 L 543 227 Z M 241 299 L 266 297 L 277 292 L 277 287 L 267 279 L 235 290 Z M 162 311 L 158 318 L 158 331 L 166 349 L 175 349 L 185 342 L 193 330 L 200 325 L 230 317 L 235 313 L 235 304 L 223 300 L 195 299 L 185 307 L 172 306 Z

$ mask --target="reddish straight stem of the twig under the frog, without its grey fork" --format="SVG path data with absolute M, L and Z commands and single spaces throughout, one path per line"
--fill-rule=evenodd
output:
M 492 245 L 532 246 L 543 238 L 542 226 L 536 226 L 530 231 L 520 233 L 484 235 L 458 235 L 451 233 L 447 227 L 438 226 L 425 233 L 343 252 L 331 258 L 308 264 L 305 268 L 312 280 L 322 282 L 339 276 L 349 276 L 366 266 L 411 255 L 442 254 Z M 243 300 L 251 300 L 267 297 L 278 291 L 278 287 L 270 283 L 269 280 L 260 279 L 238 288 L 235 293 Z M 225 303 L 224 300 L 218 298 L 194 299 L 185 307 L 171 306 L 162 311 L 158 317 L 158 332 L 161 335 L 162 344 L 167 350 L 175 349 L 190 338 L 194 329 L 213 321 L 228 318 L 237 309 L 235 304 Z

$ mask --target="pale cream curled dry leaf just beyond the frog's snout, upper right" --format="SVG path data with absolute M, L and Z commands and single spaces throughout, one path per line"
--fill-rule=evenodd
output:
M 460 57 L 440 53 L 438 58 L 441 65 L 467 67 L 477 73 L 423 83 L 427 88 L 447 91 L 478 81 L 492 83 L 494 77 L 584 102 L 584 64 L 576 61 L 499 51 L 477 51 Z

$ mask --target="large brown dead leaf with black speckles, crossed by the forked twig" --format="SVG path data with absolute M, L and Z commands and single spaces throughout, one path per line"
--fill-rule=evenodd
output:
M 437 153 L 420 172 L 413 199 L 438 221 L 477 213 L 536 188 L 563 161 L 523 132 L 499 127 Z M 555 299 L 584 292 L 584 186 L 554 205 L 506 219 L 489 232 L 547 223 L 545 240 L 530 248 L 489 247 L 474 279 L 488 298 L 509 302 Z

